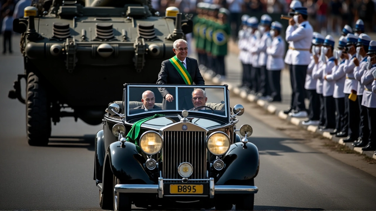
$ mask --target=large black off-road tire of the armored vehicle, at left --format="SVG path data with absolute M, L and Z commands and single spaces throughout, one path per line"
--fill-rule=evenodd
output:
M 45 146 L 51 136 L 50 102 L 46 90 L 33 72 L 27 75 L 26 133 L 31 146 Z

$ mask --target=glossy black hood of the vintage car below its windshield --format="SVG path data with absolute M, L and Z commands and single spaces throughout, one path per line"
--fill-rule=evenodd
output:
M 225 122 L 217 121 L 214 119 L 202 118 L 202 117 L 187 117 L 189 121 L 193 124 L 199 125 L 200 127 L 210 129 L 212 127 L 220 127 L 225 125 Z M 135 121 L 136 122 L 136 121 Z M 132 123 L 135 123 L 132 122 Z M 166 127 L 167 125 L 180 122 L 180 118 L 177 116 L 162 116 L 158 118 L 150 119 L 144 122 L 141 127 L 155 128 L 157 130 Z

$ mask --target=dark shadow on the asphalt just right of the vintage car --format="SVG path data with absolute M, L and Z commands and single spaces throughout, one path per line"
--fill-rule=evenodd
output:
M 321 154 L 321 152 L 300 152 L 290 148 L 286 144 L 296 143 L 302 139 L 291 138 L 274 138 L 274 137 L 249 137 L 248 141 L 257 146 L 260 155 L 276 155 L 282 156 L 280 153 L 305 153 L 305 154 Z

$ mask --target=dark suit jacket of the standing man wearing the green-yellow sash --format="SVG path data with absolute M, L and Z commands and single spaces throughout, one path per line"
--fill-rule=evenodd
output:
M 188 73 L 191 75 L 192 81 L 196 85 L 205 85 L 205 80 L 200 73 L 197 60 L 190 58 L 190 57 L 186 57 L 186 66 L 187 66 L 186 69 Z M 175 67 L 171 64 L 170 60 L 164 60 L 162 62 L 161 72 L 159 72 L 159 75 L 158 75 L 157 84 L 185 84 L 185 82 L 182 76 L 179 74 L 179 72 L 177 72 Z M 165 88 L 158 88 L 158 89 L 159 89 L 159 92 L 161 92 L 161 95 L 163 96 L 162 107 L 164 109 L 174 108 L 175 100 L 178 100 L 175 98 L 176 97 L 175 94 L 171 93 L 174 96 L 174 101 L 167 102 L 165 100 L 165 96 L 170 92 Z M 182 107 L 187 107 L 186 109 L 193 108 L 193 104 L 191 100 L 193 88 L 192 89 L 180 88 L 178 90 L 179 90 L 178 91 L 179 108 L 182 108 Z

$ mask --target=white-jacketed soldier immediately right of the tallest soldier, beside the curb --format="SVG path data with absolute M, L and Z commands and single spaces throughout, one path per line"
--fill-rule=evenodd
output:
M 317 79 L 312 77 L 312 72 L 315 67 L 315 59 L 320 55 L 320 47 L 324 43 L 324 37 L 318 33 L 313 33 L 312 47 L 311 47 L 311 63 L 307 67 L 306 80 L 304 88 L 307 91 L 309 100 L 308 106 L 308 120 L 303 121 L 303 125 L 318 125 L 320 123 L 320 95 L 316 92 Z M 322 94 L 322 93 L 321 93 Z

